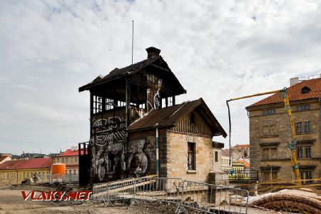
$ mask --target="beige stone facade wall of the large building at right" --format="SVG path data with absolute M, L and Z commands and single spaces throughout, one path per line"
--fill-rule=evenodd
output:
M 295 111 L 295 106 L 310 103 L 311 109 Z M 313 178 L 321 176 L 320 103 L 318 100 L 291 102 L 295 122 L 311 121 L 311 132 L 297 134 L 297 146 L 311 146 L 312 158 L 299 158 L 301 170 L 312 171 Z M 276 113 L 263 116 L 264 109 L 275 108 Z M 251 168 L 268 169 L 277 173 L 277 178 L 293 179 L 290 153 L 287 148 L 292 139 L 290 121 L 282 103 L 250 108 L 250 160 Z M 268 151 L 263 154 L 263 149 Z M 268 155 L 268 158 L 264 156 Z M 262 177 L 262 176 L 261 176 Z

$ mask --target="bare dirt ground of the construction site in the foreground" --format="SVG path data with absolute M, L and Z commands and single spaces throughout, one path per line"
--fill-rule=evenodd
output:
M 153 213 L 153 214 L 168 214 L 175 212 L 175 205 L 164 203 L 140 203 L 140 205 L 124 205 L 116 203 L 113 207 L 101 204 L 93 204 L 90 201 L 81 203 L 77 201 L 32 201 L 24 200 L 21 195 L 21 188 L 1 188 L 0 189 L 0 214 L 5 213 Z M 26 190 L 30 190 L 26 188 Z M 275 213 L 268 210 L 259 210 L 256 208 L 248 208 L 248 213 L 270 214 Z M 189 210 L 188 213 L 197 213 L 196 211 Z

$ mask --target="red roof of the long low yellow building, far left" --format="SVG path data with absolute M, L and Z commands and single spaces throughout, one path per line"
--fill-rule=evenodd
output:
M 49 168 L 51 158 L 34 158 L 28 160 L 6 161 L 0 164 L 0 170 L 4 169 L 29 169 L 29 168 Z

